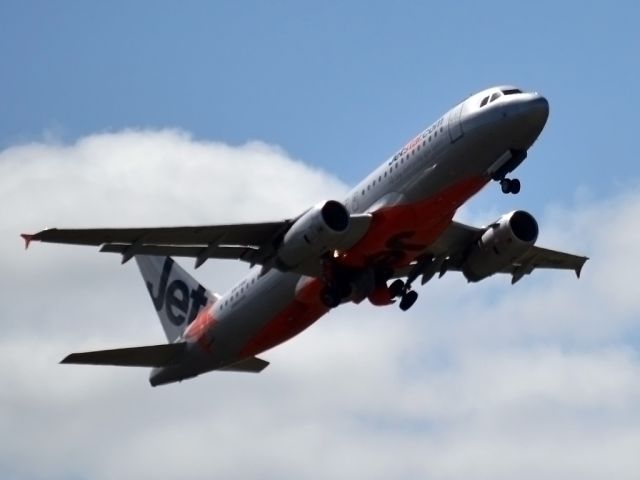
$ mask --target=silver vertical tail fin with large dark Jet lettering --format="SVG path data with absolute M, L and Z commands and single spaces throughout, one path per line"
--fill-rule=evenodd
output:
M 216 301 L 216 295 L 200 285 L 171 257 L 136 255 L 134 258 L 164 333 L 169 342 L 173 342 L 182 335 L 201 308 Z

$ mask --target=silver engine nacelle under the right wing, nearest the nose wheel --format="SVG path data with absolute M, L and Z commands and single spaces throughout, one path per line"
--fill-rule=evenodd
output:
M 524 255 L 538 239 L 538 222 L 522 210 L 507 213 L 482 234 L 462 265 L 470 282 L 498 273 Z

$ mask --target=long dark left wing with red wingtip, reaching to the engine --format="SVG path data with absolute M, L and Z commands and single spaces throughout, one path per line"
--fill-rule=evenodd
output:
M 23 234 L 32 241 L 102 246 L 101 252 L 122 254 L 123 263 L 134 255 L 193 257 L 196 268 L 208 258 L 239 259 L 262 264 L 273 256 L 278 239 L 293 220 L 279 222 L 158 228 L 91 228 L 42 230 Z

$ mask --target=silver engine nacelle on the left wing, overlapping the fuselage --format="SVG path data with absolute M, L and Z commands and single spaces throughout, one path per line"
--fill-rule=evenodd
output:
M 350 225 L 346 207 L 335 200 L 319 203 L 291 226 L 278 248 L 277 263 L 291 270 L 340 245 Z

